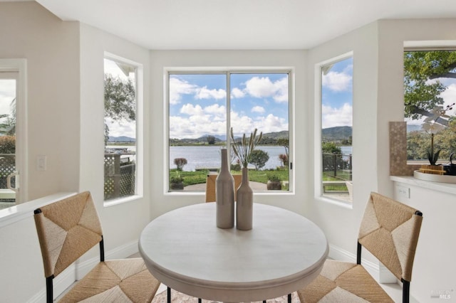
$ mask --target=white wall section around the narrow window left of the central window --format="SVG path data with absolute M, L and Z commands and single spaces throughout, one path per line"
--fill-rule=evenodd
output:
M 149 222 L 150 216 L 150 156 L 144 157 L 144 193 L 133 201 L 115 206 L 103 207 L 104 166 L 100 157 L 104 154 L 104 68 L 105 52 L 134 61 L 144 68 L 144 112 L 150 108 L 149 96 L 149 50 L 140 48 L 116 36 L 110 35 L 81 24 L 81 166 L 80 191 L 90 191 L 97 204 L 103 225 L 105 248 L 111 250 L 126 243 L 138 240 L 142 228 Z M 138 112 L 137 121 L 141 120 Z M 149 119 L 145 119 L 144 128 L 149 129 Z M 142 133 L 139 133 L 142 134 Z M 149 155 L 151 136 L 138 137 L 138 144 L 145 147 Z M 138 153 L 141 150 L 138 149 Z M 99 155 L 99 156 L 97 156 Z M 138 155 L 137 155 L 138 156 Z M 138 167 L 138 169 L 141 169 Z M 136 248 L 136 247 L 135 247 Z

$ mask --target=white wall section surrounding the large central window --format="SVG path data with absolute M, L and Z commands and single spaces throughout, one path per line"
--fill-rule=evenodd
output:
M 309 198 L 311 187 L 306 182 L 306 170 L 313 165 L 309 161 L 309 155 L 302 152 L 309 145 L 304 117 L 311 115 L 309 103 L 305 96 L 306 78 L 304 63 L 304 50 L 152 50 L 151 60 L 151 182 L 148 184 L 151 189 L 151 218 L 174 208 L 187 206 L 194 203 L 204 202 L 204 193 L 165 193 L 165 184 L 162 178 L 167 174 L 166 156 L 164 144 L 167 141 L 164 112 L 165 100 L 163 87 L 165 80 L 165 68 L 235 68 L 235 67 L 286 67 L 294 68 L 294 89 L 296 112 L 295 126 L 295 147 L 294 147 L 294 168 L 296 179 L 299 183 L 296 186 L 296 193 L 286 197 L 274 194 L 255 194 L 254 201 L 280 206 L 283 208 L 304 213 L 305 203 Z M 290 102 L 291 104 L 291 102 Z M 291 123 L 291 122 L 290 122 Z

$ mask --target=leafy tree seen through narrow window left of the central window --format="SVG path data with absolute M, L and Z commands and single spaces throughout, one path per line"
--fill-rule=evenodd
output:
M 135 85 L 110 74 L 105 74 L 105 119 L 115 121 L 136 119 Z M 105 144 L 109 139 L 109 127 L 105 123 Z

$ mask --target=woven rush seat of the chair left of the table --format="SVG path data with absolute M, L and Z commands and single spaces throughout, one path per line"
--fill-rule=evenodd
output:
M 59 302 L 151 302 L 159 286 L 141 258 L 108 260 L 98 263 Z

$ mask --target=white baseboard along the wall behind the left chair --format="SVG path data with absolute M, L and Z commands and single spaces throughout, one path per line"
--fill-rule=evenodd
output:
M 105 259 L 122 259 L 138 252 L 138 240 L 121 245 L 118 248 L 109 250 L 105 252 Z M 80 280 L 81 277 L 87 275 L 87 273 L 100 262 L 100 256 L 92 257 L 83 262 L 76 261 L 73 265 L 70 265 L 66 270 L 61 272 L 53 280 L 53 289 L 54 289 L 54 298 L 60 296 L 68 287 L 70 287 L 75 281 Z M 43 277 L 43 280 L 44 277 Z M 46 302 L 46 287 L 41 289 L 33 297 L 31 297 L 27 302 L 38 303 Z

